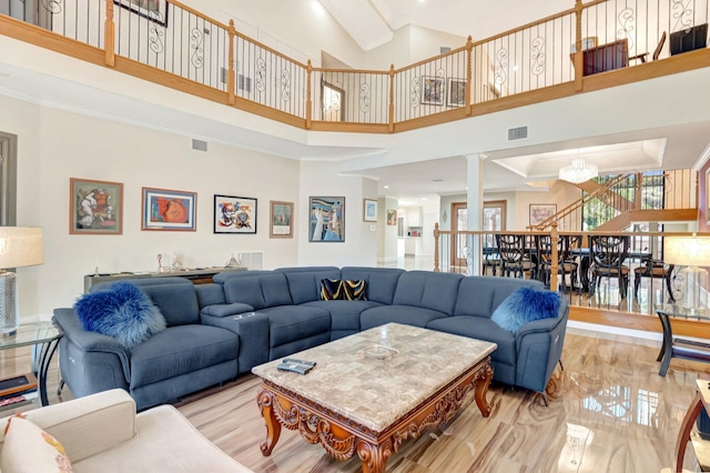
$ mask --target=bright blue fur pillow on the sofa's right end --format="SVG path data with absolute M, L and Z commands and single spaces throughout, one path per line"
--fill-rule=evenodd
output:
M 490 320 L 509 332 L 517 332 L 523 325 L 534 320 L 557 316 L 559 295 L 552 291 L 536 291 L 520 288 L 508 295 Z

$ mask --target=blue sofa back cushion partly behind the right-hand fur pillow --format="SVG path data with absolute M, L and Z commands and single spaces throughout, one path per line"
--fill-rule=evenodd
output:
M 490 319 L 503 301 L 520 288 L 545 289 L 540 281 L 518 278 L 466 276 L 462 279 L 455 315 L 476 315 Z

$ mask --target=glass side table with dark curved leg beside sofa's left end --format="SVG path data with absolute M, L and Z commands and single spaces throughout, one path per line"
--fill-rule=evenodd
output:
M 37 375 L 40 405 L 49 404 L 47 373 L 61 338 L 61 330 L 49 321 L 20 325 L 17 334 L 0 338 L 0 350 L 32 346 L 32 373 Z

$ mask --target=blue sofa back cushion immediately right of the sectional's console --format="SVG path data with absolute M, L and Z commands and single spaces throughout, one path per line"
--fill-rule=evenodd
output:
M 254 310 L 291 305 L 286 276 L 274 271 L 247 271 L 222 283 L 227 303 L 241 302 Z

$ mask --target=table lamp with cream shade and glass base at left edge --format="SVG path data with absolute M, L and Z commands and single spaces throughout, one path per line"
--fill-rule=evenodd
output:
M 17 275 L 13 268 L 42 264 L 42 229 L 0 227 L 0 336 L 11 336 L 20 325 Z

